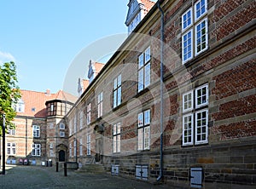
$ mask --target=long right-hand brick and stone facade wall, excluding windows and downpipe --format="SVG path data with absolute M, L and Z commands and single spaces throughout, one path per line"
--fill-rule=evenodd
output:
M 185 64 L 181 61 L 181 16 L 192 3 L 164 1 L 161 6 L 165 12 L 165 179 L 189 184 L 191 168 L 201 167 L 205 186 L 207 182 L 255 185 L 255 1 L 207 1 L 208 48 Z M 90 156 L 77 156 L 81 166 L 92 163 L 91 159 L 100 152 L 98 161 L 108 171 L 119 165 L 119 175 L 135 178 L 136 166 L 147 166 L 147 180 L 154 181 L 160 174 L 160 12 L 157 6 L 142 22 L 136 32 L 146 35 L 129 37 L 80 97 L 79 108 L 91 103 L 91 123 L 84 124 L 69 140 L 80 137 L 85 140 L 85 130 L 89 129 L 91 141 L 95 141 L 91 142 Z M 138 93 L 137 61 L 148 47 L 151 82 Z M 119 74 L 122 99 L 113 108 L 113 80 Z M 209 98 L 205 107 L 207 143 L 183 146 L 183 94 L 204 84 Z M 97 118 L 96 101 L 101 91 L 103 115 Z M 69 119 L 74 117 L 74 110 L 67 115 Z M 146 110 L 150 110 L 151 117 L 150 148 L 138 151 L 138 114 Z M 116 123 L 121 125 L 118 153 L 113 152 Z M 99 125 L 103 125 L 104 131 L 97 130 Z M 83 149 L 86 151 L 86 146 Z

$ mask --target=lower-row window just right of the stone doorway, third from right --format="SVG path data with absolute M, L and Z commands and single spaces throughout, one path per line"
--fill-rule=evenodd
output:
M 120 152 L 121 149 L 121 123 L 113 125 L 113 153 Z

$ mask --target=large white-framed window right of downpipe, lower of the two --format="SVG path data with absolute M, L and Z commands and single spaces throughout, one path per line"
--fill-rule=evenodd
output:
M 183 94 L 183 146 L 208 142 L 207 106 L 207 84 Z

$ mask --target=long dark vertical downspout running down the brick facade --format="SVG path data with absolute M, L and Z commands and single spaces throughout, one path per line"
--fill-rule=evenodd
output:
M 164 121 L 164 100 L 163 100 L 163 83 L 164 83 L 164 20 L 165 15 L 163 9 L 160 7 L 160 3 L 163 1 L 158 1 L 158 9 L 161 13 L 161 26 L 160 26 L 160 175 L 157 178 L 157 181 L 164 179 L 163 171 L 163 121 Z

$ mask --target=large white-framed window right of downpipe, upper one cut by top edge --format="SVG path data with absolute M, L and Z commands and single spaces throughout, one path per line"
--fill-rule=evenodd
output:
M 182 32 L 182 60 L 185 63 L 208 48 L 207 0 L 197 1 L 194 9 L 182 15 Z

